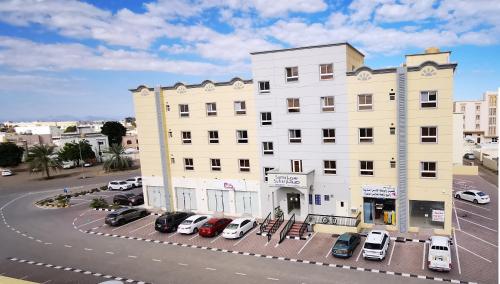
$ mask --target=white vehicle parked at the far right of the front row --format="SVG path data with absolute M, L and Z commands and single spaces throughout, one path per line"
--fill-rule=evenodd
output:
M 427 266 L 432 270 L 451 270 L 450 239 L 442 236 L 430 237 Z

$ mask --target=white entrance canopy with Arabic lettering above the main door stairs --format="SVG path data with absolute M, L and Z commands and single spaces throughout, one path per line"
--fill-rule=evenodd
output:
M 305 173 L 290 173 L 272 170 L 267 172 L 267 184 L 271 187 L 291 187 L 307 195 L 314 183 L 314 170 Z

